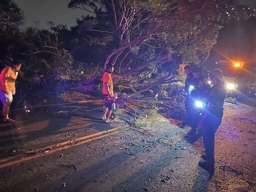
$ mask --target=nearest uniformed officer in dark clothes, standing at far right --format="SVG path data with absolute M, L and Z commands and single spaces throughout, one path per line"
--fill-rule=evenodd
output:
M 209 178 L 211 178 L 214 173 L 214 135 L 223 116 L 226 90 L 223 87 L 224 80 L 220 69 L 210 71 L 208 77 L 213 86 L 209 90 L 208 106 L 199 123 L 199 126 L 202 128 L 205 155 L 201 155 L 204 161 L 199 161 L 198 165 L 207 170 L 210 173 Z

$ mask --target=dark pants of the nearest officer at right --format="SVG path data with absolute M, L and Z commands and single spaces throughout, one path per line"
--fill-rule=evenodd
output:
M 205 148 L 205 156 L 209 163 L 214 164 L 214 136 L 221 123 L 221 118 L 209 114 L 203 120 L 202 138 Z

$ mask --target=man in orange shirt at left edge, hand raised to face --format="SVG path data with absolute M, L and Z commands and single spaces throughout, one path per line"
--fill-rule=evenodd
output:
M 3 122 L 15 122 L 8 116 L 9 107 L 13 100 L 12 95 L 15 94 L 15 81 L 17 78 L 18 70 L 21 67 L 20 62 L 12 62 L 10 66 L 2 69 L 0 73 L 0 100 L 3 104 L 2 114 Z

